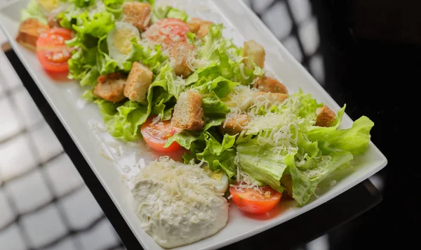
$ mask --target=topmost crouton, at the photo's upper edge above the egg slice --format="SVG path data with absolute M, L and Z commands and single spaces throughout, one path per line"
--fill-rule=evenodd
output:
M 123 20 L 130 22 L 141 32 L 149 26 L 151 20 L 152 8 L 150 4 L 140 3 L 138 1 L 126 2 L 123 5 Z

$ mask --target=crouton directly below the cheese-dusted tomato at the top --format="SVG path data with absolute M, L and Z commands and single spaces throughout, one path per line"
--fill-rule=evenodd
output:
M 175 74 L 182 77 L 188 77 L 192 69 L 187 64 L 189 59 L 196 57 L 196 47 L 187 42 L 174 44 L 170 50 L 169 60 L 173 64 Z

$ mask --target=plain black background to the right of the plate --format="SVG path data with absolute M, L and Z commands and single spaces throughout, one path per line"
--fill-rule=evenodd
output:
M 421 1 L 314 0 L 312 7 L 319 20 L 324 87 L 338 104 L 351 107 L 352 119 L 366 115 L 375 122 L 373 143 L 388 159 L 379 173 L 382 202 L 330 232 L 330 249 L 416 246 Z

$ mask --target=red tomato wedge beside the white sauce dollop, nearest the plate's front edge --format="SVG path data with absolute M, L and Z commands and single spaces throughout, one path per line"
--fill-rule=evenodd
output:
M 260 191 L 253 188 L 239 190 L 237 187 L 229 187 L 232 201 L 239 209 L 248 213 L 266 213 L 272 210 L 282 197 L 282 194 L 269 185 L 260 187 Z

